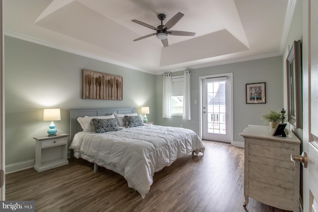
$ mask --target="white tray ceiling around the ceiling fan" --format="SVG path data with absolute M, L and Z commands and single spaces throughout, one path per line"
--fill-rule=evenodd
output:
M 296 0 L 5 0 L 5 34 L 114 63 L 161 73 L 282 54 Z M 159 13 L 171 30 L 196 32 L 156 37 Z

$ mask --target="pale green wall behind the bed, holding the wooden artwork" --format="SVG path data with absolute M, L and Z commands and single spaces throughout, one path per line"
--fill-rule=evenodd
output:
M 44 108 L 60 108 L 58 134 L 70 133 L 70 109 L 150 107 L 155 121 L 156 75 L 67 53 L 12 37 L 4 37 L 5 164 L 35 158 L 33 137 L 47 135 Z M 81 99 L 82 70 L 123 77 L 123 100 Z M 69 139 L 69 144 L 70 144 Z

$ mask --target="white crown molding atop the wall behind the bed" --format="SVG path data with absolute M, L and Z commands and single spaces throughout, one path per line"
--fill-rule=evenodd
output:
M 99 57 L 99 56 L 96 56 L 96 55 L 93 55 L 93 54 L 82 52 L 82 51 L 79 51 L 79 50 L 76 50 L 76 49 L 73 49 L 73 48 L 70 48 L 70 47 L 66 47 L 66 46 L 60 45 L 60 44 L 52 43 L 50 41 L 45 41 L 45 40 L 42 40 L 42 39 L 39 39 L 39 38 L 35 38 L 35 37 L 29 36 L 29 35 L 25 35 L 25 34 L 22 34 L 22 33 L 19 33 L 19 32 L 15 32 L 15 31 L 12 31 L 12 30 L 9 30 L 9 29 L 4 29 L 3 32 L 4 32 L 4 35 L 9 36 L 9 37 L 13 37 L 13 38 L 17 38 L 17 39 L 20 39 L 20 40 L 28 41 L 28 42 L 31 42 L 31 43 L 39 44 L 39 45 L 42 45 L 42 46 L 50 47 L 50 48 L 53 48 L 53 49 L 58 49 L 58 50 L 61 50 L 61 51 L 73 53 L 73 54 L 76 54 L 76 55 L 79 55 L 79 56 L 83 56 L 83 57 L 86 57 L 86 58 L 91 58 L 91 59 L 95 59 L 95 60 L 98 60 L 98 61 L 114 64 L 114 65 L 125 67 L 125 68 L 128 68 L 128 69 L 133 69 L 133 70 L 136 70 L 136 71 L 142 71 L 142 72 L 146 72 L 146 73 L 156 74 L 155 71 L 149 71 L 149 70 L 141 69 L 141 68 L 134 67 L 134 66 L 128 66 L 127 64 L 118 63 L 116 61 L 112 61 L 112 60 L 109 60 L 109 59 L 106 59 L 106 58 L 103 58 L 103 57 Z

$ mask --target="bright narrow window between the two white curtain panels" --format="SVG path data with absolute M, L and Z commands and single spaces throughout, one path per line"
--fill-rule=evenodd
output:
M 183 113 L 183 75 L 172 76 L 171 82 L 171 115 L 182 116 Z

